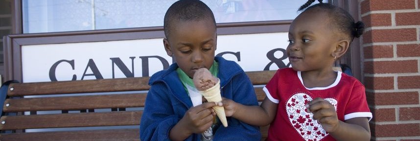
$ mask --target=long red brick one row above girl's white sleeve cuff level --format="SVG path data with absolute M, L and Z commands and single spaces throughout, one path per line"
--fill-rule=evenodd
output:
M 371 93 L 366 92 L 369 105 L 410 105 L 419 104 L 419 92 Z

